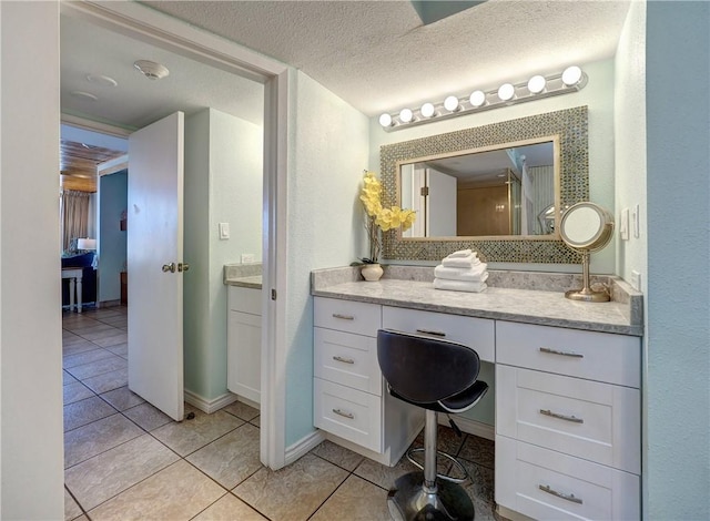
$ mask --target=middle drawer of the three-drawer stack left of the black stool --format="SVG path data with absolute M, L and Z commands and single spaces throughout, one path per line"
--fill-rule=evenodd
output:
M 382 395 L 377 339 L 314 328 L 314 375 L 373 395 Z

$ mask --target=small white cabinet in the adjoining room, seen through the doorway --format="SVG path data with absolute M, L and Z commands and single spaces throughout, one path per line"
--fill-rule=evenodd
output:
M 261 402 L 262 292 L 227 287 L 226 387 L 235 395 Z

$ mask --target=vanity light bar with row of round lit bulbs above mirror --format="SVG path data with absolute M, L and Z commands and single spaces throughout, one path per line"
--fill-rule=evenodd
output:
M 560 74 L 548 76 L 536 74 L 525 82 L 504 83 L 498 89 L 476 90 L 470 95 L 463 98 L 449 95 L 440 103 L 424 103 L 418 109 L 403 109 L 393 114 L 384 113 L 379 116 L 379 124 L 385 131 L 392 132 L 432 121 L 489 111 L 499 106 L 570 94 L 584 89 L 587 81 L 587 74 L 579 67 L 572 65 Z

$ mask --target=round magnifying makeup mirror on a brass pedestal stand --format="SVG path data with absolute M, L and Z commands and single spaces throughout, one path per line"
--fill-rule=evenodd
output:
M 609 302 L 607 292 L 591 289 L 589 284 L 589 253 L 604 248 L 611 239 L 613 217 L 595 203 L 577 203 L 570 206 L 560 221 L 560 235 L 567 246 L 581 253 L 581 289 L 565 293 L 567 298 L 587 303 Z

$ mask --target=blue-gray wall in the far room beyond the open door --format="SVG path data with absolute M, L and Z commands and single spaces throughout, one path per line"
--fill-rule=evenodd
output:
M 99 180 L 99 302 L 121 298 L 121 275 L 125 266 L 126 232 L 121 232 L 121 212 L 128 201 L 126 171 Z

